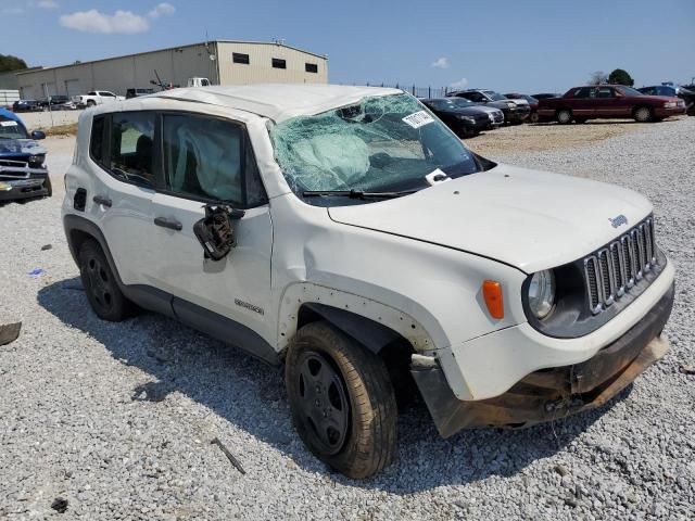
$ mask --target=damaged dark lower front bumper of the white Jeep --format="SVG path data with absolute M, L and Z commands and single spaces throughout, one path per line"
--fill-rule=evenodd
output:
M 604 405 L 666 355 L 669 343 L 660 333 L 672 306 L 673 285 L 640 322 L 589 360 L 532 372 L 493 398 L 458 399 L 437 363 L 414 358 L 410 372 L 442 437 L 462 429 L 561 419 Z

